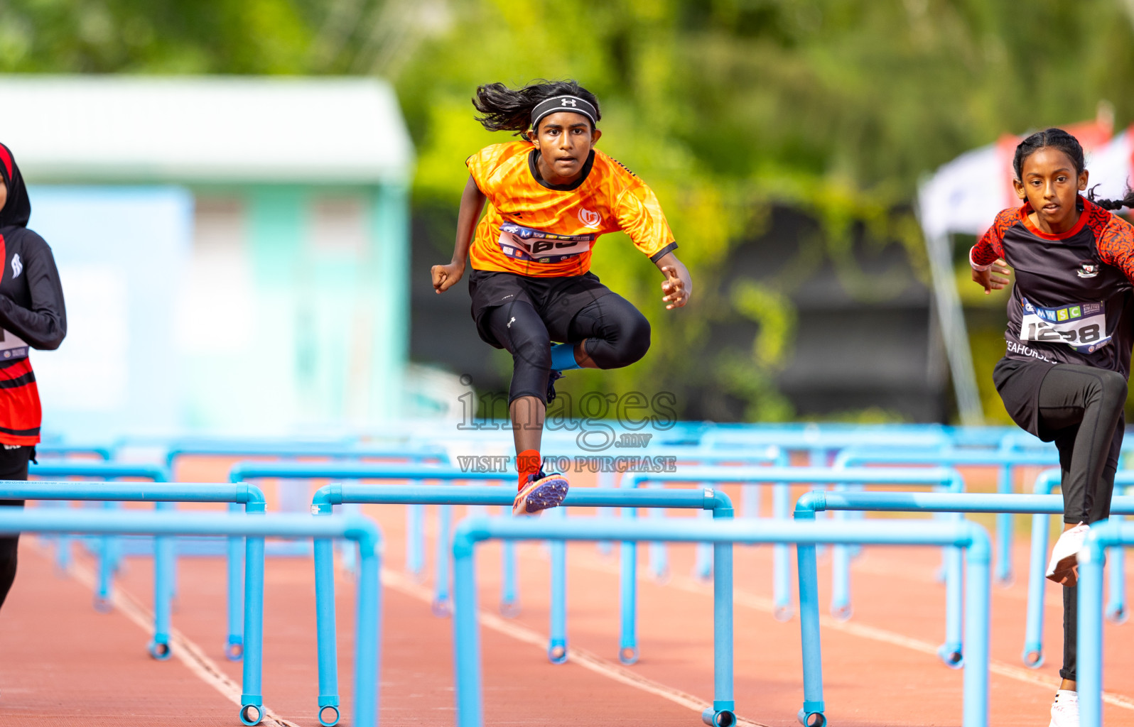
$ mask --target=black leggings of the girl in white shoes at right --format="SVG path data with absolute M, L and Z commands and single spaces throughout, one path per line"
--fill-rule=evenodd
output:
M 1060 364 L 1043 377 L 1040 422 L 1056 435 L 1063 470 L 1064 522 L 1092 523 L 1110 516 L 1110 496 L 1123 445 L 1120 426 L 1126 379 L 1115 371 Z M 1075 681 L 1078 589 L 1064 589 L 1064 666 Z

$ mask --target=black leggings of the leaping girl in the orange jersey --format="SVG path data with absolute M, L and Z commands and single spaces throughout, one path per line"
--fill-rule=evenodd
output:
M 519 396 L 547 401 L 552 333 L 557 340 L 572 343 L 586 339 L 586 353 L 599 368 L 629 366 L 650 349 L 650 322 L 617 293 L 602 296 L 581 308 L 564 332 L 549 332 L 540 314 L 525 301 L 498 306 L 484 315 L 492 335 L 511 353 L 509 404 Z

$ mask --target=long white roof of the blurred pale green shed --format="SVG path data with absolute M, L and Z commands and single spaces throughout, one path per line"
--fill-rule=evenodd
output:
M 33 182 L 373 183 L 413 164 L 373 78 L 0 75 L 0 99 Z

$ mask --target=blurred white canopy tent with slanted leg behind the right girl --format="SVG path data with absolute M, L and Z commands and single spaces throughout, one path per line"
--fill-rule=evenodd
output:
M 1098 197 L 1120 199 L 1127 185 L 1134 183 L 1134 127 L 1111 138 L 1109 123 L 1097 122 L 1093 130 L 1098 132 L 1100 126 L 1105 126 L 1106 140 L 1093 146 L 1084 144 L 1089 187 L 1098 185 Z M 1080 138 L 1086 139 L 1089 135 Z M 922 182 L 917 193 L 938 320 L 949 357 L 957 408 L 965 425 L 980 424 L 983 413 L 964 311 L 957 297 L 949 234 L 982 234 L 992 225 L 997 213 L 1021 204 L 1012 188 L 1015 146 L 1016 140 L 1006 137 L 1001 143 L 966 152 L 938 169 Z

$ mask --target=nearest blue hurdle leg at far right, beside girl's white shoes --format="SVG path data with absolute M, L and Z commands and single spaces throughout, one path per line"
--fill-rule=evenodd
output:
M 1088 557 L 1084 557 L 1086 555 Z M 1078 556 L 1078 643 L 1075 686 L 1083 727 L 1102 725 L 1102 557 L 1093 548 Z

